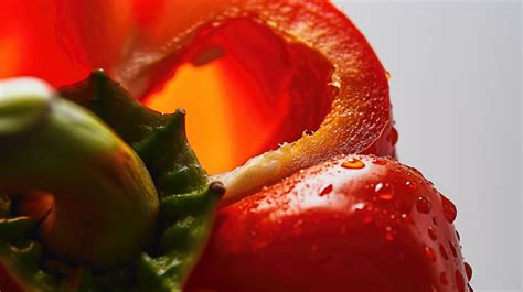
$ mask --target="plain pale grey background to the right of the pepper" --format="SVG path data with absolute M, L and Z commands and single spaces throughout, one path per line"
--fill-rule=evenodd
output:
M 458 207 L 474 290 L 520 291 L 521 3 L 334 2 L 392 74 L 401 161 Z

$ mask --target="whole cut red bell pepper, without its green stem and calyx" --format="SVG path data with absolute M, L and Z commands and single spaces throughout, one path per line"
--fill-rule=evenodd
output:
M 267 100 L 231 106 L 273 128 L 235 123 L 264 142 L 213 177 L 231 205 L 188 291 L 466 291 L 453 205 L 420 174 L 377 156 L 313 166 L 394 155 L 397 141 L 388 74 L 329 1 L 8 0 L 0 21 L 0 77 L 61 86 L 103 67 L 150 106 L 180 66 L 226 55 L 260 84 Z

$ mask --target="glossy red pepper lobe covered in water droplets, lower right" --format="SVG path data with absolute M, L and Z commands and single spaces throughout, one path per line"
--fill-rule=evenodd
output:
M 185 291 L 467 291 L 455 218 L 416 170 L 341 156 L 222 208 Z

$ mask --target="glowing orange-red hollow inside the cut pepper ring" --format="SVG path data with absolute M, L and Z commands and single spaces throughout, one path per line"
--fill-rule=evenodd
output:
M 186 110 L 189 141 L 211 174 L 316 131 L 331 109 L 332 65 L 264 25 L 234 19 L 193 43 L 145 104 Z

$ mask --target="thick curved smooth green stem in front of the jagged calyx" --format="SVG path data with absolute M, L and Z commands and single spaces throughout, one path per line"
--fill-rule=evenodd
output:
M 0 186 L 53 195 L 44 246 L 95 267 L 153 238 L 159 198 L 138 155 L 89 111 L 32 78 L 0 82 Z

